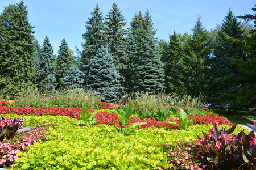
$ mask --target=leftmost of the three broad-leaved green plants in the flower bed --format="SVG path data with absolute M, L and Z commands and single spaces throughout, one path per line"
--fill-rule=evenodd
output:
M 78 125 L 78 126 L 88 126 L 88 125 L 96 125 L 100 124 L 100 122 L 96 122 L 95 119 L 96 112 L 90 113 L 90 111 L 86 108 L 82 108 L 80 111 L 80 120 L 84 121 L 84 124 L 81 124 L 79 120 L 74 120 L 71 124 Z

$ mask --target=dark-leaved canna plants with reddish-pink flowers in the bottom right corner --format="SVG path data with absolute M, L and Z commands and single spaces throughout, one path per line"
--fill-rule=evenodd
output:
M 256 138 L 254 131 L 246 134 L 242 130 L 230 135 L 237 124 L 225 130 L 213 126 L 209 134 L 200 139 L 199 152 L 205 154 L 211 169 L 256 169 Z

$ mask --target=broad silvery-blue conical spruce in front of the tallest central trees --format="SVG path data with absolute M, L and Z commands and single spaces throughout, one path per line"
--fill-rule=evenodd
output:
M 113 59 L 109 56 L 108 50 L 101 46 L 94 56 L 88 73 L 88 88 L 97 90 L 102 101 L 108 103 L 116 102 L 119 93 L 119 82 Z

